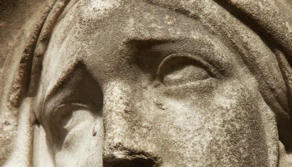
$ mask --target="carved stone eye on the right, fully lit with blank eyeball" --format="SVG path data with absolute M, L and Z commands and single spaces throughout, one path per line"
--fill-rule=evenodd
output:
M 190 54 L 169 55 L 161 62 L 157 78 L 165 85 L 180 85 L 211 77 L 211 71 L 206 63 Z

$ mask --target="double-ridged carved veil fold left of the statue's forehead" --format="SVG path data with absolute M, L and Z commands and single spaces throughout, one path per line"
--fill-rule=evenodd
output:
M 18 108 L 22 99 L 32 96 L 37 88 L 43 54 L 47 48 L 57 18 L 70 0 L 52 0 L 30 34 L 14 77 L 8 107 Z M 29 87 L 29 89 L 28 89 Z

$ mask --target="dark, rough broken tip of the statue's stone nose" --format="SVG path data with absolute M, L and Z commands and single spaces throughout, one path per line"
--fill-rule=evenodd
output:
M 105 150 L 104 167 L 159 167 L 160 157 L 146 151 L 133 150 L 116 145 Z

